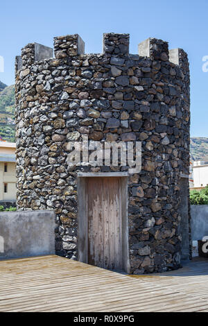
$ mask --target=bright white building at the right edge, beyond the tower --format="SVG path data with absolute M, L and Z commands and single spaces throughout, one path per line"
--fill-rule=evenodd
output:
M 193 184 L 194 188 L 208 186 L 208 164 L 205 161 L 193 162 Z

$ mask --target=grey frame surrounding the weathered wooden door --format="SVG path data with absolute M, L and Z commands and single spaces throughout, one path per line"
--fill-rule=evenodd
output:
M 123 271 L 130 273 L 128 244 L 128 173 L 78 173 L 78 261 L 88 264 L 88 218 L 87 218 L 87 178 L 121 178 L 121 218 L 122 218 L 122 252 Z

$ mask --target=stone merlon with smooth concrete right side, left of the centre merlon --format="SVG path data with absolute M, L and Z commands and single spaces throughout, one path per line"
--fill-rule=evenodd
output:
M 85 42 L 78 34 L 54 37 L 54 53 L 58 59 L 84 54 Z

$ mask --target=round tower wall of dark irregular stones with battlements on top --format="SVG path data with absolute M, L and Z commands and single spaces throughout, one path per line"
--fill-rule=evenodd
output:
M 128 34 L 104 34 L 101 54 L 84 54 L 84 45 L 78 35 L 55 37 L 55 58 L 46 51 L 35 61 L 35 44 L 17 57 L 17 207 L 55 209 L 56 252 L 76 259 L 78 171 L 128 166 L 71 167 L 67 142 L 141 141 L 141 173 L 128 180 L 131 273 L 178 268 L 179 181 L 189 174 L 187 54 L 153 38 L 129 54 Z

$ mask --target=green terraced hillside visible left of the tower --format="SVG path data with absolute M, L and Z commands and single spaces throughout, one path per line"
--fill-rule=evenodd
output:
M 0 137 L 15 141 L 15 86 L 0 81 Z

